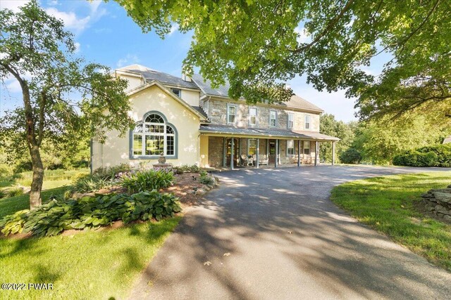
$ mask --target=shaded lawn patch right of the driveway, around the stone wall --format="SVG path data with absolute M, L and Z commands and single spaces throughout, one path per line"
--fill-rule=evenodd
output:
M 330 200 L 372 228 L 451 271 L 451 226 L 415 208 L 420 195 L 451 183 L 451 171 L 383 176 L 344 183 Z

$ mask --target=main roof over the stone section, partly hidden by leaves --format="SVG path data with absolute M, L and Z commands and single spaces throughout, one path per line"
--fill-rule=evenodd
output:
M 224 86 L 219 86 L 217 89 L 213 89 L 211 87 L 211 81 L 205 80 L 200 74 L 192 75 L 192 80 L 199 86 L 202 93 L 204 93 L 205 95 L 228 97 L 228 90 L 230 89 L 230 84 L 228 84 L 228 82 L 226 82 Z M 313 103 L 310 103 L 309 101 L 297 95 L 293 95 L 291 99 L 288 100 L 287 102 L 280 102 L 277 103 L 276 105 L 290 108 L 299 108 L 303 110 L 314 110 L 316 112 L 324 111 L 320 107 L 314 105 Z

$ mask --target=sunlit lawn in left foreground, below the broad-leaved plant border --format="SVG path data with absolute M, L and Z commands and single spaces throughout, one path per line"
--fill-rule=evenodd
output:
M 0 290 L 0 299 L 124 299 L 178 221 L 180 217 L 73 236 L 0 239 L 2 282 L 54 285 L 49 291 Z

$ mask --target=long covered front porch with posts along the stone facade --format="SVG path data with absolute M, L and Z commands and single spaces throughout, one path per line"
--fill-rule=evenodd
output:
M 201 167 L 237 169 L 318 165 L 320 143 L 339 140 L 315 132 L 280 129 L 242 129 L 231 126 L 201 126 Z

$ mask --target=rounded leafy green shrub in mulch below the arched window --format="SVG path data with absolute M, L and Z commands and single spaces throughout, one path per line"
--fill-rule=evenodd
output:
M 167 188 L 174 181 L 172 171 L 154 170 L 138 171 L 135 174 L 125 174 L 121 178 L 121 185 L 129 193 L 145 192 Z

